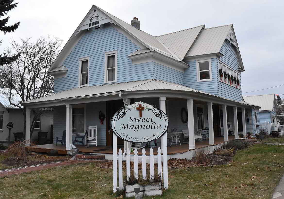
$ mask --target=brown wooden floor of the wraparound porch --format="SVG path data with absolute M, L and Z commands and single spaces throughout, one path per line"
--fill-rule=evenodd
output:
M 234 139 L 234 138 L 235 136 L 229 136 L 229 140 Z M 214 145 L 225 143 L 224 137 L 214 138 L 214 143 L 215 143 Z M 207 146 L 211 146 L 209 145 L 209 140 L 195 141 L 196 149 L 207 147 Z M 102 155 L 112 154 L 112 146 L 97 146 L 96 147 L 94 145 L 90 145 L 87 148 L 85 147 L 85 145 L 76 145 L 76 147 L 79 149 L 81 153 L 98 153 Z M 43 153 L 47 153 L 48 151 L 51 151 L 52 149 L 58 150 L 59 154 L 67 154 L 67 150 L 65 149 L 65 146 L 61 145 L 61 143 L 57 143 L 57 146 L 56 144 L 45 144 L 45 145 L 35 145 L 35 146 L 26 147 L 26 150 L 28 151 L 43 152 Z M 117 153 L 119 149 L 120 148 L 117 149 Z M 123 147 L 121 149 L 123 151 Z M 146 154 L 150 154 L 150 148 L 145 148 L 145 150 L 146 150 Z M 153 148 L 154 155 L 157 154 L 157 150 L 158 150 L 158 147 Z M 181 146 L 179 144 L 178 146 L 172 145 L 172 147 L 168 145 L 168 155 L 177 154 L 177 153 L 185 153 L 191 150 L 193 149 L 189 149 L 187 143 L 181 143 Z M 138 154 L 142 154 L 142 149 L 138 149 Z

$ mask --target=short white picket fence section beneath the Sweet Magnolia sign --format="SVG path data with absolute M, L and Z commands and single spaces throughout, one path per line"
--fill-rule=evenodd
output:
M 162 179 L 162 155 L 161 149 L 158 148 L 158 155 L 153 154 L 153 148 L 150 148 L 150 155 L 146 155 L 145 148 L 142 149 L 142 155 L 138 155 L 137 149 L 134 149 L 134 155 L 130 155 L 130 149 L 126 151 L 126 157 L 123 157 L 122 150 L 118 151 L 118 189 L 123 189 L 123 170 L 122 161 L 126 160 L 126 178 L 128 179 L 131 174 L 130 161 L 134 162 L 134 176 L 138 177 L 138 163 L 142 161 L 142 178 L 147 179 L 146 162 L 150 163 L 150 179 L 154 179 L 154 162 L 158 163 L 158 175 Z

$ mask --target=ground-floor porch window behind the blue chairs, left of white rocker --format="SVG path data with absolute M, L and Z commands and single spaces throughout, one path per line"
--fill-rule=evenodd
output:
M 85 107 L 72 108 L 72 133 L 85 132 Z

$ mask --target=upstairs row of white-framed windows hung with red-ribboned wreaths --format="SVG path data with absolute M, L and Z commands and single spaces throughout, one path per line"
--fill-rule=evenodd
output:
M 240 73 L 231 69 L 230 67 L 221 62 L 219 62 L 219 81 L 241 89 Z

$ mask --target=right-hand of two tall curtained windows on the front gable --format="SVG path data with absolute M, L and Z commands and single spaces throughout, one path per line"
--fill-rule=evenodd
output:
M 105 83 L 117 81 L 117 50 L 105 52 Z

